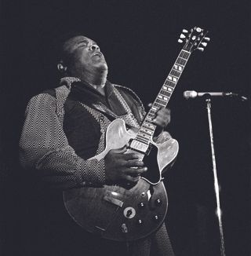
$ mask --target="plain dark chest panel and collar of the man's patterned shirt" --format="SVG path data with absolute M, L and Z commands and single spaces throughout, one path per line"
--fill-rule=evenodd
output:
M 115 88 L 111 82 L 107 82 L 104 88 L 105 95 L 102 95 L 87 84 L 74 82 L 71 86 L 71 93 L 64 104 L 64 132 L 71 147 L 83 159 L 89 159 L 95 155 L 101 134 L 100 123 L 93 119 L 93 116 L 82 107 L 80 102 L 89 107 L 92 107 L 93 104 L 100 105 L 106 110 L 104 115 L 110 121 L 113 121 L 116 117 L 129 115 L 129 112 L 126 111 L 126 108 L 116 96 Z M 140 123 L 139 109 L 133 96 L 122 90 L 119 93 L 126 100 L 137 122 Z

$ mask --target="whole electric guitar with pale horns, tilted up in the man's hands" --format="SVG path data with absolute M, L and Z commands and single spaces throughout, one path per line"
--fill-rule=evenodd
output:
M 106 148 L 92 159 L 103 159 L 111 149 L 129 144 L 127 152 L 136 152 L 148 171 L 136 185 L 103 185 L 100 188 L 72 188 L 64 191 L 64 204 L 78 225 L 100 234 L 104 239 L 131 241 L 155 232 L 166 217 L 168 199 L 162 174 L 176 159 L 178 142 L 169 138 L 162 144 L 153 140 L 153 117 L 159 108 L 166 108 L 187 60 L 195 49 L 204 50 L 209 38 L 200 27 L 183 30 L 178 42 L 185 42 L 155 102 L 145 115 L 140 129 L 127 130 L 122 119 L 107 127 Z M 153 156 L 153 157 L 151 157 Z

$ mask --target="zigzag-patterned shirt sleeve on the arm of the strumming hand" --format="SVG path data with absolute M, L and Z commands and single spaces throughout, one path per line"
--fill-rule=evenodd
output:
M 42 181 L 71 188 L 104 184 L 104 159 L 86 160 L 68 144 L 56 115 L 56 98 L 41 93 L 31 98 L 20 137 L 20 163 L 35 169 Z

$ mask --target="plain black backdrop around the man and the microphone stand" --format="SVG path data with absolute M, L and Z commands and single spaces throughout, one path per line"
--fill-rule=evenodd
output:
M 153 101 L 180 51 L 183 28 L 209 30 L 169 102 L 169 131 L 180 153 L 165 182 L 166 223 L 176 255 L 218 255 L 213 171 L 206 106 L 184 90 L 250 96 L 248 1 L 3 1 L 1 11 L 1 236 L 0 252 L 17 254 L 22 173 L 17 143 L 27 101 L 57 85 L 55 43 L 81 31 L 99 43 L 111 82 Z M 250 104 L 213 99 L 213 133 L 220 180 L 226 254 L 249 254 Z M 17 232 L 19 231 L 19 232 Z M 16 249 L 12 244 L 16 244 Z M 16 251 L 15 251 L 16 250 Z

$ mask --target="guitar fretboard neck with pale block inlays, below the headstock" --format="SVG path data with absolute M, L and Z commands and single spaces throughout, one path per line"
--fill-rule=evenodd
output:
M 152 119 L 155 117 L 159 108 L 166 108 L 190 55 L 191 52 L 181 49 L 179 56 L 173 64 L 173 68 L 169 72 L 169 75 L 155 99 L 155 102 L 152 104 L 147 115 L 145 115 L 144 121 L 140 126 L 140 130 L 136 135 L 136 140 L 149 144 L 156 128 L 155 124 L 152 123 Z

